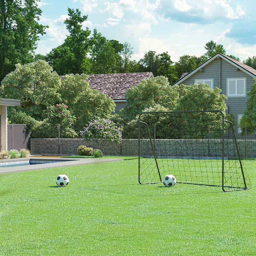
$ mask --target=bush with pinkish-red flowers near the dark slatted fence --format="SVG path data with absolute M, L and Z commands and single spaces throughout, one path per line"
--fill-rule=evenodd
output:
M 68 136 L 71 138 L 78 137 L 78 134 L 72 128 L 73 124 L 76 122 L 76 117 L 72 116 L 71 112 L 68 110 L 68 106 L 59 103 L 55 106 L 47 107 L 47 109 L 42 114 L 44 116 L 44 130 L 51 130 L 52 126 L 60 124 L 61 135 Z

